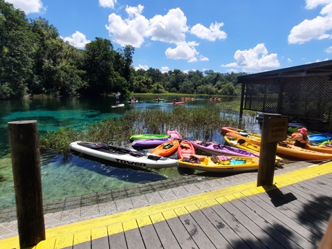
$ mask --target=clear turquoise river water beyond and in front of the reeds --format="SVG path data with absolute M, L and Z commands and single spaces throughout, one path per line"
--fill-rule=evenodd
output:
M 37 120 L 39 133 L 55 131 L 59 127 L 80 128 L 84 124 L 98 122 L 104 118 L 122 116 L 129 109 L 172 110 L 168 102 L 154 102 L 153 97 L 138 97 L 139 102 L 124 107 L 111 108 L 115 98 L 98 99 L 46 99 L 12 100 L 1 102 L 0 109 L 0 209 L 15 206 L 15 193 L 12 178 L 12 166 L 8 145 L 7 122 L 17 120 Z M 160 96 L 165 98 L 166 96 Z M 179 98 L 181 98 L 179 96 Z M 225 98 L 230 101 L 232 98 Z M 204 107 L 211 104 L 208 98 L 198 98 L 185 103 L 186 108 Z M 237 113 L 238 117 L 238 113 Z M 236 117 L 236 118 L 237 118 Z M 189 138 L 188 138 L 189 139 Z M 220 133 L 213 137 L 216 142 L 223 138 Z M 131 185 L 160 181 L 179 176 L 177 169 L 142 169 L 119 167 L 111 162 L 94 160 L 73 155 L 69 160 L 62 156 L 42 156 L 42 189 L 44 201 L 63 199 L 114 190 Z

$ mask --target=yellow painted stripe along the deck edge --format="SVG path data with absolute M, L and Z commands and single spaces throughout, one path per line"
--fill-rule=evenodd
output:
M 285 167 L 287 167 L 287 165 L 285 165 Z M 332 162 L 324 163 L 322 165 L 307 167 L 304 169 L 299 169 L 295 172 L 289 172 L 286 174 L 275 176 L 274 184 L 276 187 L 284 187 L 293 183 L 298 183 L 300 181 L 314 178 L 316 176 L 329 174 L 331 172 Z M 109 234 L 115 234 L 117 232 L 125 231 L 124 227 L 122 228 L 122 223 L 131 220 L 135 220 L 136 223 L 136 219 L 143 219 L 147 216 L 146 214 L 149 214 L 149 219 L 151 219 L 152 223 L 156 223 L 165 220 L 166 217 L 167 219 L 169 219 L 168 217 L 174 217 L 174 215 L 178 216 L 182 214 L 187 214 L 188 210 L 184 207 L 190 207 L 189 209 L 192 209 L 193 207 L 191 205 L 193 204 L 195 204 L 197 208 L 203 208 L 205 204 L 203 205 L 202 202 L 205 202 L 206 205 L 212 206 L 216 205 L 217 203 L 224 203 L 226 201 L 237 199 L 239 198 L 237 195 L 238 193 L 242 193 L 243 196 L 250 196 L 254 194 L 254 192 L 255 194 L 259 194 L 262 192 L 266 192 L 266 190 L 264 190 L 263 187 L 257 187 L 256 181 L 250 183 L 243 183 L 241 185 L 226 187 L 221 190 L 214 190 L 196 196 L 189 196 L 183 199 L 177 199 L 174 201 L 159 203 L 144 208 L 138 208 L 136 210 L 129 210 L 127 212 L 111 214 L 109 216 L 103 216 L 100 218 L 91 219 L 89 221 L 71 223 L 57 228 L 50 228 L 46 230 L 46 241 L 48 239 L 64 237 L 66 234 L 75 234 L 76 237 L 77 234 L 80 234 L 80 232 L 82 232 L 82 234 L 85 234 L 85 236 L 81 236 L 79 237 L 79 239 L 75 238 L 74 236 L 75 244 L 78 243 L 78 241 L 84 241 L 84 239 L 86 240 L 88 238 L 86 234 L 90 234 L 90 231 L 93 228 L 107 227 Z M 174 210 L 174 213 L 170 212 L 169 210 Z M 162 212 L 165 217 L 163 216 L 163 214 L 161 214 Z M 126 228 L 133 228 L 133 226 L 130 225 L 132 224 L 131 222 L 125 223 L 127 224 Z M 19 238 L 12 237 L 9 239 L 3 239 L 0 240 L 0 244 L 6 245 L 6 248 L 19 248 Z

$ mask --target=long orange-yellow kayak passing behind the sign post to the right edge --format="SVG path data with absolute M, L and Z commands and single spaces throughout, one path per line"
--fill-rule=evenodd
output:
M 254 145 L 260 146 L 260 140 L 253 136 L 241 136 L 239 133 L 226 133 L 226 136 L 231 136 L 240 140 L 245 140 Z M 300 147 L 295 147 L 293 145 L 288 145 L 287 142 L 277 143 L 277 155 L 278 156 L 288 156 L 291 158 L 297 158 L 301 160 L 330 160 L 332 159 L 332 154 L 323 153 L 319 151 L 312 151 L 309 149 L 302 149 Z

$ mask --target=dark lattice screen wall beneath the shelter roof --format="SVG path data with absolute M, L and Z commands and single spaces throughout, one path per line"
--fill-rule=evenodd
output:
M 244 84 L 243 109 L 331 120 L 329 76 L 260 78 Z

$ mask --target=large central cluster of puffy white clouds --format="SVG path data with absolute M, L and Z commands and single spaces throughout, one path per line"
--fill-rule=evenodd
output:
M 151 41 L 167 42 L 175 44 L 175 48 L 167 48 L 165 55 L 169 59 L 186 59 L 187 62 L 208 61 L 208 57 L 199 55 L 195 46 L 196 42 L 186 42 L 185 35 L 190 30 L 187 26 L 187 17 L 180 8 L 174 8 L 167 12 L 166 15 L 155 15 L 147 19 L 142 15 L 144 6 L 136 7 L 127 6 L 127 18 L 122 19 L 120 15 L 112 13 L 109 15 L 109 24 L 105 27 L 109 30 L 109 36 L 112 41 L 126 46 L 127 44 L 140 48 L 145 39 Z M 215 41 L 216 39 L 225 39 L 227 35 L 220 30 L 223 24 L 211 24 L 210 28 L 205 28 L 197 24 L 192 28 L 194 35 L 202 39 Z M 147 42 L 149 43 L 149 41 Z

